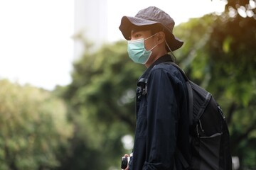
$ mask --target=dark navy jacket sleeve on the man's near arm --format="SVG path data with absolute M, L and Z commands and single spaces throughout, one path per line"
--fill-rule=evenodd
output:
M 174 169 L 178 129 L 175 92 L 178 79 L 163 69 L 154 69 L 147 84 L 146 162 L 143 169 Z

